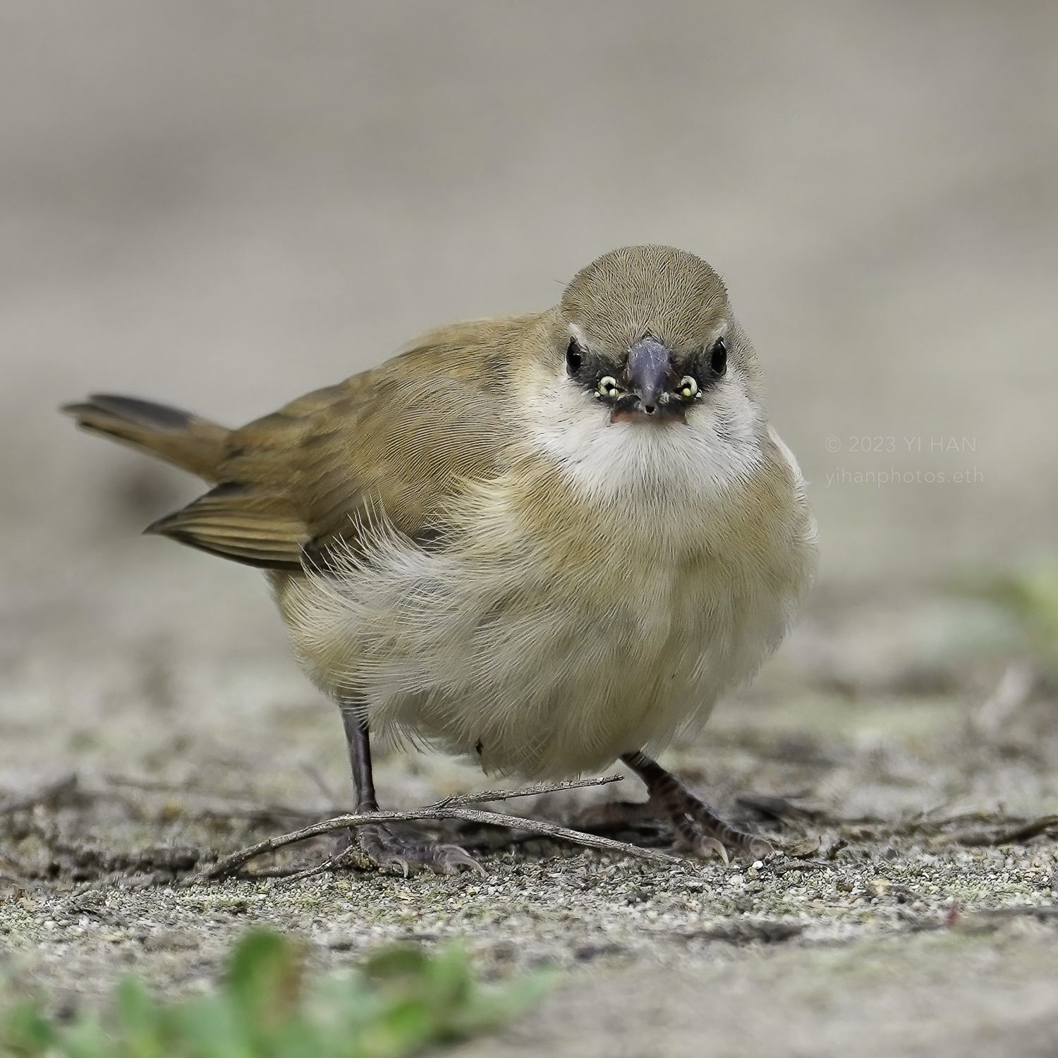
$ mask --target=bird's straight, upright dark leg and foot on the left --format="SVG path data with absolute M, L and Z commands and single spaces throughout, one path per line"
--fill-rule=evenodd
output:
M 349 764 L 352 765 L 357 811 L 378 811 L 367 717 L 357 703 L 342 703 L 341 709 L 345 740 L 349 747 Z M 357 844 L 376 867 L 403 874 L 405 878 L 421 868 L 435 874 L 459 874 L 462 870 L 486 873 L 485 868 L 458 845 L 441 844 L 433 839 L 406 838 L 385 823 L 358 826 Z

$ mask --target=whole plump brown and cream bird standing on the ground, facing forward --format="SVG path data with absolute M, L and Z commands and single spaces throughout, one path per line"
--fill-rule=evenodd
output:
M 145 532 L 264 571 L 341 710 L 358 813 L 372 737 L 529 780 L 620 759 L 678 847 L 773 851 L 655 760 L 779 646 L 817 559 L 701 258 L 610 251 L 553 308 L 440 327 L 239 428 L 113 395 L 61 411 L 212 486 Z M 350 840 L 382 871 L 480 870 L 382 822 Z

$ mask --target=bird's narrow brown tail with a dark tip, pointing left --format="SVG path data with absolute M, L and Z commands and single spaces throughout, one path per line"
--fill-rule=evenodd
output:
M 141 452 L 216 481 L 231 431 L 166 404 L 93 394 L 84 404 L 65 404 L 63 413 L 92 434 L 112 437 Z

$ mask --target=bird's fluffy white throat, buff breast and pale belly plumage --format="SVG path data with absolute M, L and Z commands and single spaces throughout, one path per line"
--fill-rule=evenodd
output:
M 537 423 L 527 466 L 566 497 L 553 517 L 515 469 L 471 490 L 449 546 L 381 526 L 366 562 L 293 579 L 280 605 L 306 668 L 378 732 L 533 777 L 704 720 L 778 645 L 811 548 L 750 553 L 767 537 L 740 541 L 729 515 L 756 435 L 697 426 Z

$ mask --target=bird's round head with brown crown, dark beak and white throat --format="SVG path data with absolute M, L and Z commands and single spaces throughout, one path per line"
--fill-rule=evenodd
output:
M 761 466 L 756 359 L 700 258 L 604 254 L 532 326 L 514 375 L 531 444 L 591 494 L 722 493 Z

